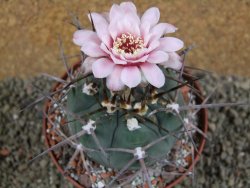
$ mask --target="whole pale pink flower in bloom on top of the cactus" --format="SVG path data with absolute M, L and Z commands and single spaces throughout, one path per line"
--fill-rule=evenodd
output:
M 88 71 L 92 66 L 96 78 L 107 78 L 110 90 L 133 88 L 143 80 L 160 88 L 165 76 L 159 66 L 181 68 L 176 51 L 183 47 L 183 42 L 175 37 L 162 37 L 177 28 L 158 23 L 158 8 L 149 8 L 139 17 L 132 2 L 123 2 L 114 4 L 108 15 L 91 13 L 91 16 L 96 32 L 78 30 L 73 42 L 89 56 L 83 66 Z

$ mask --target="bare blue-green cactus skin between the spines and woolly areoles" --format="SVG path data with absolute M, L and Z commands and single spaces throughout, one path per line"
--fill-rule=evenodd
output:
M 165 72 L 166 75 L 174 77 L 175 74 L 170 72 Z M 101 86 L 100 80 L 91 81 L 97 82 L 97 85 Z M 83 81 L 84 82 L 84 81 Z M 92 119 L 96 121 L 95 134 L 100 141 L 102 147 L 105 148 L 124 148 L 124 149 L 135 149 L 136 147 L 143 147 L 165 135 L 169 135 L 166 139 L 159 142 L 158 144 L 150 147 L 146 150 L 145 163 L 147 166 L 154 164 L 156 161 L 161 160 L 166 157 L 170 152 L 171 148 L 176 142 L 178 135 L 173 136 L 170 133 L 176 132 L 181 129 L 182 122 L 173 113 L 159 112 L 152 117 L 147 119 L 147 114 L 152 110 L 166 107 L 166 103 L 163 103 L 162 100 L 166 98 L 160 98 L 156 104 L 148 103 L 148 111 L 145 115 L 138 118 L 139 125 L 141 128 L 134 131 L 129 131 L 127 128 L 127 118 L 133 117 L 129 111 L 131 110 L 117 110 L 112 114 L 108 114 L 106 110 L 98 111 L 96 113 L 90 114 L 91 112 L 96 111 L 97 109 L 103 108 L 97 99 L 102 101 L 104 96 L 102 94 L 102 87 L 99 89 L 99 92 L 95 96 L 87 95 L 82 92 L 83 82 L 77 83 L 75 88 L 72 88 L 67 96 L 67 108 L 71 112 L 78 114 L 83 119 Z M 89 80 L 88 80 L 89 82 Z M 99 83 L 98 83 L 99 82 Z M 161 91 L 167 91 L 175 87 L 177 83 L 173 80 L 166 80 L 166 84 Z M 142 88 L 136 88 L 134 90 L 134 96 L 138 98 L 143 95 L 141 90 Z M 109 94 L 110 95 L 110 94 Z M 141 99 L 133 98 L 132 105 L 135 102 L 140 101 Z M 183 104 L 182 95 L 179 94 L 177 97 L 177 103 Z M 97 120 L 98 119 L 98 120 Z M 71 134 L 76 134 L 82 130 L 82 123 L 74 119 L 72 116 L 68 115 L 69 129 Z M 134 158 L 134 155 L 131 153 L 118 152 L 118 151 L 108 151 L 107 157 L 103 155 L 97 144 L 95 143 L 91 135 L 83 135 L 79 138 L 80 143 L 82 143 L 87 148 L 96 149 L 98 151 L 87 152 L 88 157 L 106 167 L 111 167 L 113 169 L 119 170 L 122 169 L 130 160 Z M 130 170 L 139 169 L 140 164 L 136 161 L 131 167 Z

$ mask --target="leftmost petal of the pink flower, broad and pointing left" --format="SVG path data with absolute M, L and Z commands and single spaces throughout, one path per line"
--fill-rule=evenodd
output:
M 73 34 L 73 42 L 76 45 L 82 46 L 89 42 L 101 44 L 101 40 L 98 38 L 97 34 L 90 30 L 78 30 Z

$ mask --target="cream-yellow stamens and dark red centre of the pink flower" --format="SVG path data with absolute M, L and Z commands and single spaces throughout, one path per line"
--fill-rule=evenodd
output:
M 113 49 L 120 54 L 137 54 L 144 47 L 141 37 L 135 37 L 130 33 L 122 34 L 113 43 Z

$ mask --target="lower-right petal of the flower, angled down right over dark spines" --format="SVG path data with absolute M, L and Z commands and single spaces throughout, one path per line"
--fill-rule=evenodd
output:
M 161 69 L 156 65 L 152 63 L 143 63 L 140 66 L 145 78 L 147 81 L 157 87 L 160 88 L 165 83 L 165 76 Z

